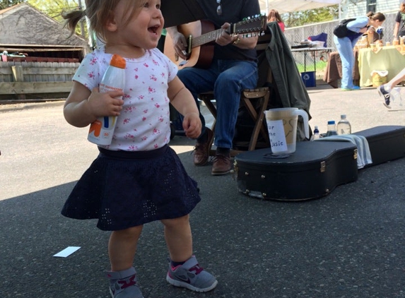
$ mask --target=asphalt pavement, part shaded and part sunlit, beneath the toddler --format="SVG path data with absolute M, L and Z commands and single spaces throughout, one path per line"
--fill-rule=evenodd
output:
M 387 109 L 375 88 L 344 92 L 322 85 L 308 93 L 310 125 L 321 133 L 340 114 L 353 132 L 405 126 L 399 98 Z M 62 105 L 0 105 L 1 297 L 110 297 L 104 275 L 109 233 L 95 220 L 60 215 L 97 155 L 87 129 L 66 124 Z M 194 141 L 175 136 L 170 145 L 199 183 L 202 200 L 191 215 L 194 253 L 218 286 L 201 294 L 168 285 L 163 226 L 152 222 L 134 262 L 144 297 L 405 297 L 404 158 L 360 169 L 357 181 L 328 196 L 280 202 L 239 193 L 232 175 L 211 176 L 211 163 L 194 167 Z M 67 246 L 81 249 L 54 257 Z

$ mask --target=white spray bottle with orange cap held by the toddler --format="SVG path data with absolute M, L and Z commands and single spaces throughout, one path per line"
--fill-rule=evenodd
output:
M 99 91 L 105 93 L 113 90 L 124 90 L 125 87 L 125 66 L 126 62 L 122 56 L 112 55 L 110 66 L 107 67 L 104 76 L 102 76 Z M 122 98 L 117 97 L 117 98 Z M 88 141 L 97 145 L 110 145 L 114 133 L 117 117 L 100 117 L 90 124 L 88 131 Z

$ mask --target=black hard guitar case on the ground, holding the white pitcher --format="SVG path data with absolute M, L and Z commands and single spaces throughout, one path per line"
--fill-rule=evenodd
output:
M 405 126 L 377 126 L 354 133 L 365 136 L 372 165 L 405 156 Z M 346 141 L 303 141 L 295 153 L 274 158 L 271 149 L 235 157 L 238 191 L 254 198 L 303 201 L 331 193 L 358 179 L 357 147 Z

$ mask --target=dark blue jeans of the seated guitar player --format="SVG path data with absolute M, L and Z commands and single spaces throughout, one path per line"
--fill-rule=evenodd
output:
M 216 100 L 215 145 L 232 148 L 240 94 L 244 89 L 256 88 L 257 63 L 255 61 L 214 60 L 210 68 L 183 68 L 177 76 L 190 90 L 199 107 L 197 95 L 213 91 Z M 204 135 L 205 119 L 200 112 Z M 201 137 L 200 136 L 200 137 Z

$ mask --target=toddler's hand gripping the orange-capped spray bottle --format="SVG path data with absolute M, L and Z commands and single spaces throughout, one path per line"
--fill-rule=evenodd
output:
M 91 90 L 88 97 L 88 110 L 94 117 L 119 116 L 124 100 L 116 98 L 124 95 L 122 91 L 108 91 L 100 93 L 98 88 Z

